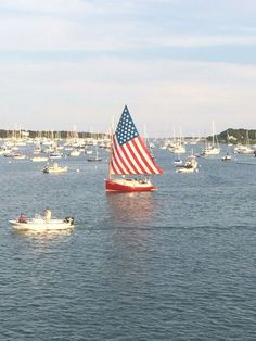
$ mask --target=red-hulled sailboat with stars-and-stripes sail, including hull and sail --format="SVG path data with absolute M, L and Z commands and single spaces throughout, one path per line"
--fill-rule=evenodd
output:
M 163 173 L 162 168 L 152 159 L 126 105 L 116 131 L 112 136 L 105 190 L 120 192 L 154 191 L 156 187 L 151 182 L 149 176 Z M 116 178 L 116 175 L 121 177 Z M 129 176 L 129 178 L 126 178 L 126 176 Z

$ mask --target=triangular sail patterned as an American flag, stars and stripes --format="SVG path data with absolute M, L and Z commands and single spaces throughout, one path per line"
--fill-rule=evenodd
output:
M 128 108 L 125 106 L 113 136 L 110 174 L 150 175 L 163 173 L 152 159 L 133 124 Z

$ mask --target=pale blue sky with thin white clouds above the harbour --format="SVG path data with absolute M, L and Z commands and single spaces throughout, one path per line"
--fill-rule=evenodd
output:
M 256 128 L 255 0 L 1 0 L 0 128 Z M 114 117 L 114 118 L 113 118 Z

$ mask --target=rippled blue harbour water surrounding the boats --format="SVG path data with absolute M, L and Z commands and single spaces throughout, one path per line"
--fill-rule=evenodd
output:
M 256 157 L 176 174 L 154 153 L 158 190 L 116 194 L 103 151 L 62 175 L 0 156 L 1 340 L 256 340 Z M 11 229 L 46 206 L 74 231 Z

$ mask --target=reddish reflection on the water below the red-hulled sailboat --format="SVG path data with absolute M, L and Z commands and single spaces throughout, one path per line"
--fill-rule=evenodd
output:
M 106 193 L 110 218 L 114 226 L 151 225 L 157 201 L 152 192 Z

